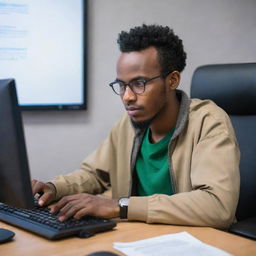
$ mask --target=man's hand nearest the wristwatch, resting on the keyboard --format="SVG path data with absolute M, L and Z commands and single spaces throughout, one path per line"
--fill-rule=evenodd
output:
M 58 212 L 58 219 L 65 221 L 70 217 L 80 219 L 85 215 L 102 218 L 115 218 L 119 216 L 117 199 L 90 194 L 76 194 L 65 196 L 60 201 L 49 206 L 52 213 Z

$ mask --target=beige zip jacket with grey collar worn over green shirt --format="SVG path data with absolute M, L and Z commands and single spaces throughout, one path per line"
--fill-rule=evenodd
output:
M 230 119 L 211 101 L 177 94 L 180 111 L 169 143 L 174 195 L 136 196 L 132 173 L 143 131 L 134 130 L 125 114 L 80 169 L 51 181 L 57 199 L 102 193 L 111 186 L 113 198 L 130 197 L 129 220 L 228 228 L 235 219 L 240 185 L 240 153 Z

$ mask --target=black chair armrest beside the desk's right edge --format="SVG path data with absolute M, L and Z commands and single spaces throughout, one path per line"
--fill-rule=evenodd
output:
M 256 217 L 248 218 L 231 225 L 229 232 L 256 240 Z

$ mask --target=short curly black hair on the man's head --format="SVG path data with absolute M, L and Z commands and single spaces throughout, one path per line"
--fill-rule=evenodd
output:
M 182 40 L 169 27 L 146 25 L 122 31 L 117 39 L 121 52 L 144 50 L 150 46 L 156 48 L 162 73 L 174 70 L 181 72 L 186 66 L 186 53 Z

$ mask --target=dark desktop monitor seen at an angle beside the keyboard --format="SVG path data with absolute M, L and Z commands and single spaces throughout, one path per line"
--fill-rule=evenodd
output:
M 20 208 L 34 206 L 14 80 L 0 80 L 0 202 Z

